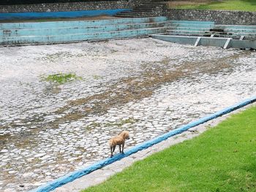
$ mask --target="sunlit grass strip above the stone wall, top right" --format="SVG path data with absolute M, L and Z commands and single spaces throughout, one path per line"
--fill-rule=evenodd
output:
M 226 0 L 209 2 L 207 4 L 184 4 L 170 7 L 176 9 L 211 9 L 211 10 L 238 10 L 256 12 L 256 0 Z

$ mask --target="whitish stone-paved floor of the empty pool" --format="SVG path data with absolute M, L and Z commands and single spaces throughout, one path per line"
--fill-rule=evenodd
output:
M 0 47 L 0 191 L 29 191 L 255 95 L 256 52 L 155 39 Z M 83 80 L 47 82 L 74 72 Z

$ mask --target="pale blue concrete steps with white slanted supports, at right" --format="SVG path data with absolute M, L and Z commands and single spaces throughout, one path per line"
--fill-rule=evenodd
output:
M 151 37 L 179 44 L 256 49 L 256 26 L 215 25 L 211 21 L 171 20 L 165 34 Z

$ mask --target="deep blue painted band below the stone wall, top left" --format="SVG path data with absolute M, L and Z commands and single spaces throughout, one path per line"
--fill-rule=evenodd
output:
M 26 20 L 39 18 L 80 18 L 94 17 L 99 15 L 116 15 L 118 12 L 131 9 L 105 9 L 105 10 L 84 10 L 73 12 L 16 12 L 0 13 L 0 20 Z

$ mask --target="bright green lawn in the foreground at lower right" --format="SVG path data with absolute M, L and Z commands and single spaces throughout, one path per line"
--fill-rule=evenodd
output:
M 256 107 L 85 191 L 256 191 Z

